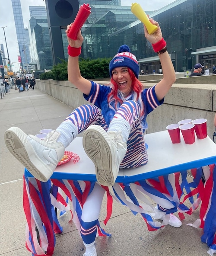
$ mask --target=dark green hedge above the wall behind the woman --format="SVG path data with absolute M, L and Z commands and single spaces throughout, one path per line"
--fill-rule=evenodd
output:
M 68 80 L 67 78 L 67 62 L 61 60 L 53 67 L 50 72 L 46 72 L 40 75 L 41 80 L 53 79 L 53 80 Z M 97 79 L 109 77 L 109 62 L 111 58 L 98 58 L 95 60 L 79 59 L 79 68 L 81 75 L 86 79 Z

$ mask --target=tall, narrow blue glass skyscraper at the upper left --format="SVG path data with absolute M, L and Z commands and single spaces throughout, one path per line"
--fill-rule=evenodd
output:
M 11 0 L 13 7 L 13 17 L 16 27 L 16 36 L 19 45 L 19 54 L 21 56 L 22 65 L 27 69 L 27 64 L 31 62 L 29 52 L 29 33 L 28 29 L 24 28 L 22 8 L 20 0 Z

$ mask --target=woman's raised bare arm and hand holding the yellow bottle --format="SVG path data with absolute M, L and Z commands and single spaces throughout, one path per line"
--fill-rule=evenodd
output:
M 158 30 L 154 34 L 150 35 L 146 27 L 144 26 L 145 37 L 150 43 L 156 44 L 162 39 L 162 32 L 158 22 L 153 19 L 150 19 L 150 21 L 152 22 L 152 24 L 158 26 Z M 168 93 L 172 84 L 175 82 L 175 70 L 169 57 L 168 51 L 159 54 L 159 58 L 162 66 L 163 78 L 159 83 L 156 84 L 155 92 L 158 100 L 161 100 Z

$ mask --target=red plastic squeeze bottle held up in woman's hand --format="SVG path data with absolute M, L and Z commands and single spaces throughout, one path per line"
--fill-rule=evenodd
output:
M 91 7 L 87 3 L 83 3 L 83 5 L 80 6 L 78 13 L 76 14 L 76 18 L 74 19 L 73 25 L 70 28 L 69 32 L 67 33 L 67 36 L 70 37 L 73 40 L 77 39 L 77 34 L 79 32 L 79 29 L 82 28 L 83 24 L 86 22 L 86 19 L 89 17 L 91 13 Z

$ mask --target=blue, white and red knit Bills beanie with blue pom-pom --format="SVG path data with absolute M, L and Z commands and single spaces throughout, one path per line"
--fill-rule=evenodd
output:
M 139 64 L 135 55 L 130 53 L 130 48 L 127 45 L 121 45 L 118 49 L 118 54 L 110 61 L 109 72 L 112 76 L 112 70 L 115 67 L 129 67 L 135 76 L 139 78 Z

